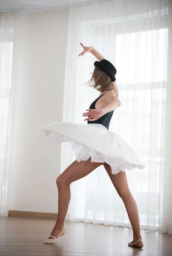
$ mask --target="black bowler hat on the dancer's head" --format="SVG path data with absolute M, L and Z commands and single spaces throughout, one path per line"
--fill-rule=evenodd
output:
M 94 65 L 100 67 L 103 71 L 105 71 L 110 76 L 112 82 L 116 80 L 115 75 L 117 73 L 117 70 L 110 61 L 103 59 L 101 61 L 95 61 Z

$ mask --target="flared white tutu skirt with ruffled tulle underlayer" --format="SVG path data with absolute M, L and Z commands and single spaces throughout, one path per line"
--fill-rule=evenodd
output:
M 57 143 L 71 143 L 78 162 L 90 157 L 91 162 L 106 162 L 111 166 L 112 174 L 144 167 L 129 145 L 103 125 L 52 122 L 44 125 L 43 130 L 45 135 Z

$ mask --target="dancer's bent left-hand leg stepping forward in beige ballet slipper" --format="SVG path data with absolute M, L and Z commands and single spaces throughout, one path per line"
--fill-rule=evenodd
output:
M 103 163 L 91 163 L 91 160 L 73 162 L 56 180 L 58 187 L 58 217 L 51 236 L 58 237 L 63 229 L 64 220 L 71 197 L 70 184 L 85 177 Z M 63 231 L 62 235 L 64 235 Z M 52 237 L 49 237 L 52 239 Z

